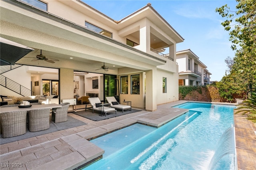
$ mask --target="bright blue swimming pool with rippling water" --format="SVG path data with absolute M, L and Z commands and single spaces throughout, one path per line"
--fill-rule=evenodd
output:
M 233 124 L 235 107 L 185 103 L 176 108 L 190 111 L 160 128 L 135 124 L 91 140 L 105 154 L 84 170 L 235 169 L 234 154 L 210 166 L 222 134 Z

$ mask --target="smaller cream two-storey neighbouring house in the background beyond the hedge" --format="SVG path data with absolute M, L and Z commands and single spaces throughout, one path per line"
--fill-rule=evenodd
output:
M 211 73 L 190 49 L 177 51 L 176 62 L 179 65 L 179 85 L 209 84 Z M 204 79 L 204 77 L 206 78 Z M 205 80 L 208 80 L 208 82 Z

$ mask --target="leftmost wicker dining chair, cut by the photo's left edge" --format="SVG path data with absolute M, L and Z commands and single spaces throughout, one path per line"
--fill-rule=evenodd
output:
M 25 134 L 27 111 L 1 113 L 2 137 L 9 138 Z

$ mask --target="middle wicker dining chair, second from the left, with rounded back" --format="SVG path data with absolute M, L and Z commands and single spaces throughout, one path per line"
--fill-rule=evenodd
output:
M 28 111 L 28 130 L 37 132 L 50 128 L 50 108 Z

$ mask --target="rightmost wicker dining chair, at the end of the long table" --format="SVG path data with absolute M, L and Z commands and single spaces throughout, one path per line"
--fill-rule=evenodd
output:
M 52 109 L 52 121 L 54 123 L 68 121 L 68 107 L 70 103 L 62 103 L 62 107 Z

